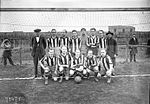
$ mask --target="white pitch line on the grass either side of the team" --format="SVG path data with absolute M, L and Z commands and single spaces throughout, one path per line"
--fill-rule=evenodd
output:
M 92 77 L 92 76 L 91 76 Z M 150 77 L 150 74 L 137 74 L 137 75 L 115 75 L 112 77 Z M 34 77 L 24 77 L 24 78 L 0 78 L 0 81 L 5 81 L 5 80 L 31 80 L 34 79 Z M 35 79 L 42 79 L 42 77 L 37 77 Z

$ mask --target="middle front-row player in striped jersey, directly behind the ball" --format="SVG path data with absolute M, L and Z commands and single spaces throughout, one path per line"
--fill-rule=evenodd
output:
M 86 74 L 85 69 L 83 68 L 84 56 L 80 53 L 80 50 L 76 50 L 75 56 L 71 60 L 71 70 L 70 76 L 83 76 Z

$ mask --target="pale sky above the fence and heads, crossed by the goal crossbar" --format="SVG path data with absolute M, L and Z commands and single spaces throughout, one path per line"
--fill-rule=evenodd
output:
M 1 0 L 1 8 L 141 8 L 150 7 L 150 0 Z M 136 31 L 150 31 L 150 11 L 119 12 L 0 12 L 0 32 L 52 28 L 108 31 L 108 26 L 134 26 Z

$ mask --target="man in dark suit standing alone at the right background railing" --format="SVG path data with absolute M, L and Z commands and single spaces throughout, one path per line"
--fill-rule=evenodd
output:
M 129 45 L 138 45 L 138 39 L 135 37 L 135 34 L 133 34 L 132 38 L 129 40 Z M 138 53 L 137 47 L 129 46 L 130 49 L 130 62 L 134 60 L 136 62 L 136 54 Z

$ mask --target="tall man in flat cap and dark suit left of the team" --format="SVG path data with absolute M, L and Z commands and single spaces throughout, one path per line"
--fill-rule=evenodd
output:
M 35 29 L 34 32 L 36 36 L 34 36 L 31 40 L 31 55 L 33 57 L 34 67 L 35 67 L 35 78 L 38 75 L 38 62 L 45 55 L 46 49 L 46 40 L 40 34 L 41 29 Z M 44 70 L 41 68 L 41 74 L 43 76 Z

